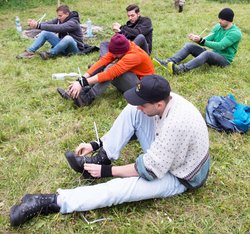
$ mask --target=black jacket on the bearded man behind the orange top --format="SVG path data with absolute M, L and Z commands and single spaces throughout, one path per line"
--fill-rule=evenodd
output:
M 151 53 L 153 26 L 150 18 L 139 16 L 135 23 L 132 24 L 128 21 L 126 25 L 121 26 L 120 29 L 121 33 L 131 41 L 133 41 L 139 34 L 143 34 L 148 43 L 149 53 Z

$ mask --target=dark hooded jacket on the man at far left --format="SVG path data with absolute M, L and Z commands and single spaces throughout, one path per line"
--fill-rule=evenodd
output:
M 56 18 L 51 21 L 40 23 L 38 28 L 58 33 L 59 38 L 69 35 L 77 42 L 78 49 L 80 51 L 84 50 L 83 32 L 80 26 L 80 18 L 76 11 L 71 11 L 63 23 Z

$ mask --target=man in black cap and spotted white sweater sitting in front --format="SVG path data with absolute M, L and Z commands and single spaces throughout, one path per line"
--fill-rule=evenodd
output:
M 128 101 L 101 145 L 82 143 L 76 154 L 67 152 L 74 170 L 94 178 L 122 177 L 106 183 L 58 189 L 57 194 L 26 194 L 10 210 L 10 223 L 19 226 L 39 214 L 88 211 L 146 199 L 166 198 L 195 190 L 207 180 L 210 157 L 205 121 L 183 97 L 170 92 L 167 80 L 145 76 L 125 92 Z M 136 134 L 143 153 L 134 163 L 112 166 Z M 77 155 L 78 154 L 78 155 Z M 97 164 L 98 163 L 98 164 Z

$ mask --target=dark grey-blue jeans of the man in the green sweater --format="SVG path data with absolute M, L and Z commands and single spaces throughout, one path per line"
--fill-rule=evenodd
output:
M 180 64 L 180 71 L 189 71 L 205 63 L 220 67 L 229 65 L 229 62 L 222 55 L 212 51 L 207 51 L 205 48 L 193 43 L 186 43 L 181 50 L 168 60 L 178 64 L 190 54 L 194 58 L 187 63 Z

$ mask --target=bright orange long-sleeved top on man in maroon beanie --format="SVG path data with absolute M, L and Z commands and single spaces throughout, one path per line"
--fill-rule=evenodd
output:
M 134 42 L 129 42 L 130 47 L 128 52 L 120 58 L 113 66 L 108 68 L 106 71 L 97 74 L 98 82 L 105 82 L 108 80 L 113 80 L 117 76 L 124 74 L 125 72 L 133 72 L 140 79 L 143 76 L 151 75 L 155 73 L 154 65 L 148 56 L 148 54 L 137 46 Z M 87 73 L 92 76 L 94 71 L 100 67 L 106 67 L 108 64 L 112 63 L 116 59 L 113 54 L 108 52 L 102 58 L 100 58 Z

